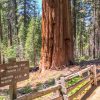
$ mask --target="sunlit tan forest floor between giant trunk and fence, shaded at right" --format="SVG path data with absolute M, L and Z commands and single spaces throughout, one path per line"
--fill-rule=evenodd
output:
M 88 65 L 94 65 L 94 64 L 99 66 L 100 59 L 83 61 L 83 62 L 73 65 L 73 66 L 66 66 L 64 69 L 62 69 L 60 71 L 46 70 L 43 73 L 40 73 L 39 71 L 31 72 L 28 80 L 18 83 L 18 88 L 23 87 L 27 84 L 32 85 L 32 87 L 35 87 L 38 83 L 44 83 L 50 79 L 56 79 L 63 75 L 72 74 L 73 72 L 75 73 Z M 100 71 L 100 70 L 98 70 L 98 71 Z

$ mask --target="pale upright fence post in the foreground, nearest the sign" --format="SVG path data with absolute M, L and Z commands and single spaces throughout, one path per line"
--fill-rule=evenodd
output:
M 64 99 L 64 100 L 68 100 L 68 96 L 67 96 L 67 87 L 66 87 L 65 78 L 64 78 L 64 77 L 61 77 L 61 78 L 60 78 L 60 81 L 61 81 L 63 99 Z

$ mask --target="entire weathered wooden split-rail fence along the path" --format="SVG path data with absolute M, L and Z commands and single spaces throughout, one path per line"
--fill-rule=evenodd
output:
M 77 76 L 81 77 L 81 79 L 77 83 L 68 86 L 68 81 Z M 73 98 L 77 97 L 82 91 L 87 89 L 92 84 L 97 85 L 98 80 L 100 80 L 100 73 L 97 74 L 96 66 L 91 65 L 85 69 L 82 69 L 77 73 L 60 77 L 60 80 L 57 80 L 55 86 L 53 87 L 39 91 L 35 94 L 29 93 L 23 95 L 21 97 L 18 97 L 16 100 L 34 100 L 36 98 L 45 96 L 52 92 L 54 94 L 58 93 L 59 95 L 57 97 L 56 96 L 52 97 L 50 100 L 73 100 Z M 82 87 L 80 87 L 74 94 L 70 96 L 68 95 L 73 89 L 77 88 L 81 84 L 83 84 Z

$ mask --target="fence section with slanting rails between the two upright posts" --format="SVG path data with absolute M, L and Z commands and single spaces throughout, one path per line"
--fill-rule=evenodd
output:
M 86 88 L 89 87 L 89 85 L 91 85 L 93 83 L 93 80 L 95 80 L 95 78 L 93 77 L 93 76 L 95 76 L 94 67 L 95 66 L 88 67 L 88 68 L 85 68 L 77 73 L 71 74 L 69 76 L 61 77 L 60 83 L 61 83 L 61 87 L 62 87 L 64 100 L 73 100 L 73 98 L 77 97 L 82 91 L 84 91 Z M 86 74 L 86 73 L 87 73 L 87 75 L 85 75 L 85 77 L 83 77 L 83 74 Z M 80 81 L 78 81 L 77 83 L 66 88 L 66 83 L 67 83 L 66 81 L 70 81 L 72 78 L 74 78 L 76 76 L 82 77 L 82 79 Z M 86 84 L 84 84 L 74 94 L 68 96 L 69 92 L 71 92 L 72 90 L 77 88 L 77 86 L 81 85 L 84 82 L 86 82 Z M 96 81 L 94 81 L 94 82 L 96 84 Z

